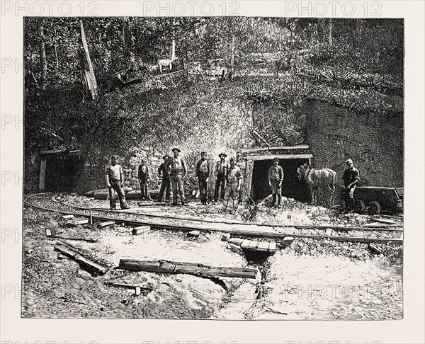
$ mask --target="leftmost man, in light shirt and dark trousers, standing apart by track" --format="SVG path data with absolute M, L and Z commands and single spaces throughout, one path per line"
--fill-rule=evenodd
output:
M 120 200 L 121 209 L 129 209 L 130 207 L 125 203 L 125 193 L 124 193 L 124 172 L 123 168 L 117 164 L 118 156 L 111 156 L 111 165 L 106 167 L 105 179 L 106 186 L 109 191 L 109 205 L 111 210 L 115 210 L 115 191 L 118 193 L 118 198 Z

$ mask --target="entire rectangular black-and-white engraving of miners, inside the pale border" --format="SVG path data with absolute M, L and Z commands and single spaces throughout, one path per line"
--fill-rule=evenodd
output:
M 23 24 L 22 317 L 403 318 L 403 19 Z

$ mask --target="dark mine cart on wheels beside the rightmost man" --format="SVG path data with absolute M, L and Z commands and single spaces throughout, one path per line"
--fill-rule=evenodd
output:
M 361 186 L 354 191 L 356 211 L 369 214 L 403 212 L 403 188 L 384 188 L 380 186 Z

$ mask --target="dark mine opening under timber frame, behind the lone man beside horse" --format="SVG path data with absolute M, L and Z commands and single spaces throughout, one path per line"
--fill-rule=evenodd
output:
M 309 159 L 280 159 L 279 165 L 283 168 L 282 195 L 294 198 L 300 202 L 310 201 L 310 189 L 305 180 L 298 180 L 297 168 L 309 163 Z M 272 159 L 254 161 L 252 172 L 252 199 L 261 200 L 271 194 L 268 186 L 268 169 L 273 166 Z

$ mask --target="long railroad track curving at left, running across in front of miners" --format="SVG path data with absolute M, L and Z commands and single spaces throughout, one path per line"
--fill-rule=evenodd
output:
M 199 219 L 193 217 L 148 214 L 128 210 L 107 210 L 102 208 L 79 207 L 55 199 L 51 193 L 30 195 L 26 204 L 45 211 L 91 217 L 94 221 L 115 221 L 131 226 L 148 225 L 152 229 L 179 231 L 219 231 L 234 236 L 260 236 L 283 239 L 288 236 L 311 239 L 332 239 L 365 243 L 403 243 L 401 225 L 382 227 L 353 227 L 303 224 L 252 224 L 244 222 Z

